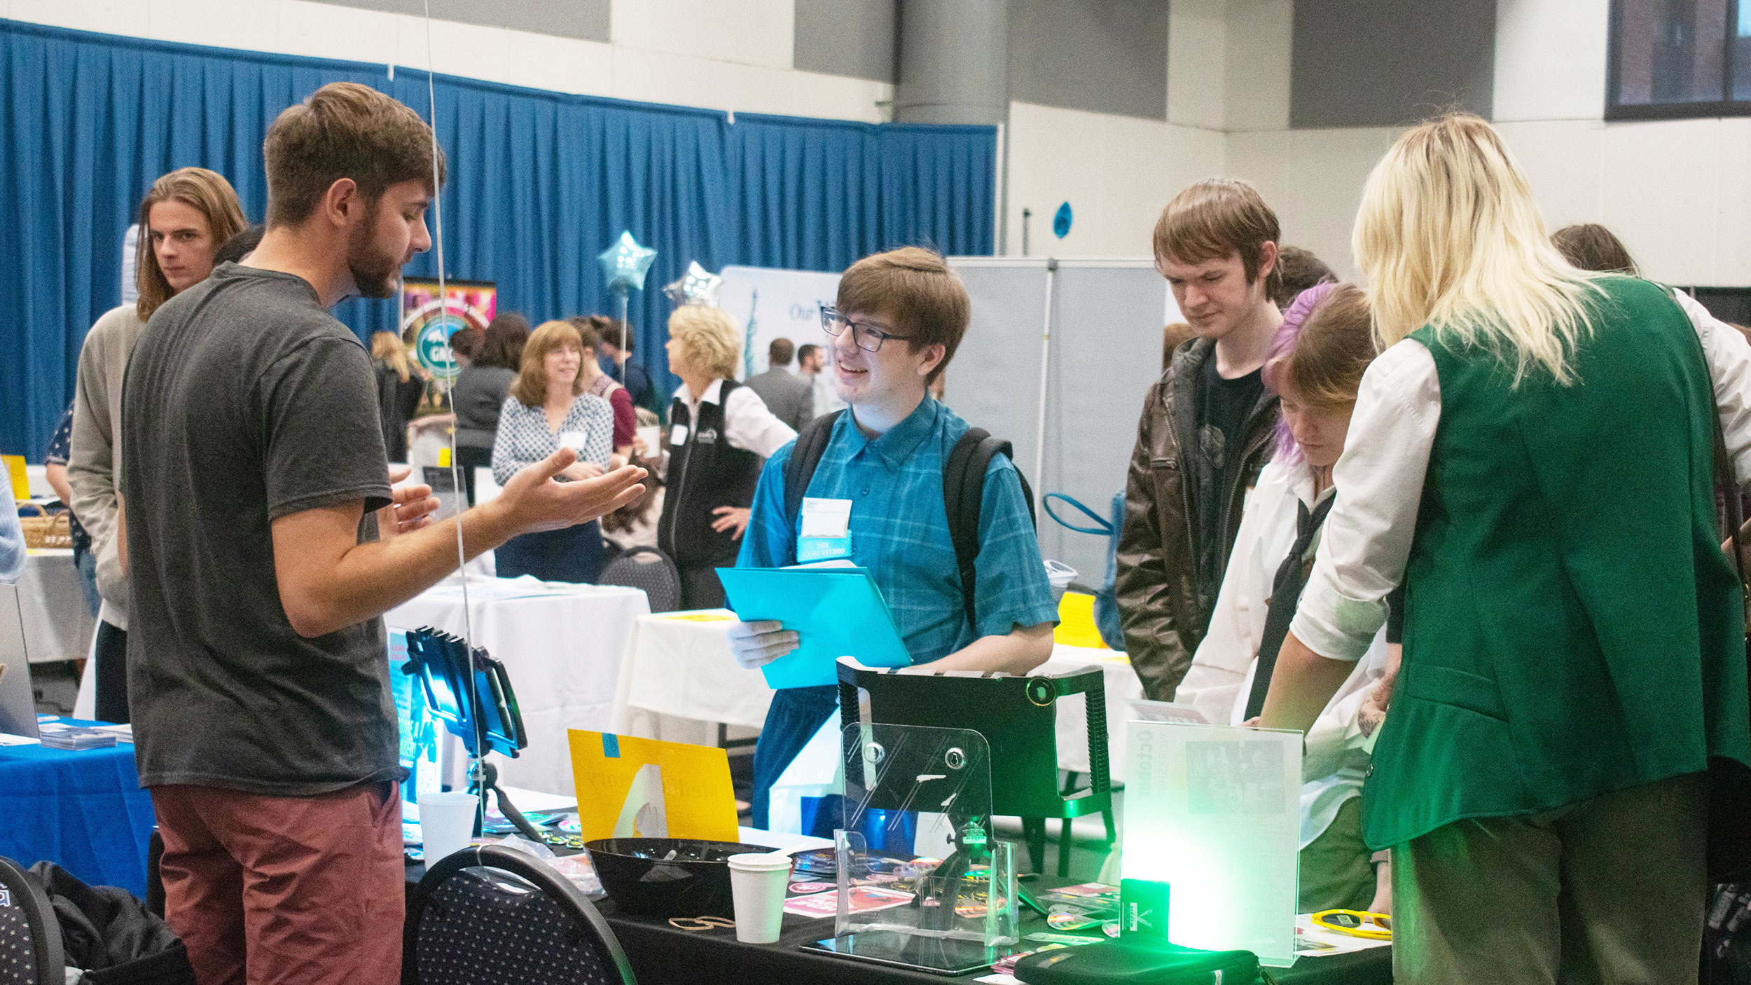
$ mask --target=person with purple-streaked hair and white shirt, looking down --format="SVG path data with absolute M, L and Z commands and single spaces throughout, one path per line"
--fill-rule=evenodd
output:
M 1175 696 L 1212 722 L 1259 717 L 1276 650 L 1319 547 L 1336 489 L 1362 372 L 1375 358 L 1368 298 L 1348 284 L 1319 284 L 1283 312 L 1264 382 L 1282 396 L 1276 454 L 1259 473 L 1222 589 L 1192 668 Z M 1362 843 L 1361 801 L 1368 733 L 1387 668 L 1385 629 L 1306 736 L 1301 785 L 1301 911 L 1390 911 L 1385 873 Z M 1364 705 L 1369 708 L 1364 710 Z

